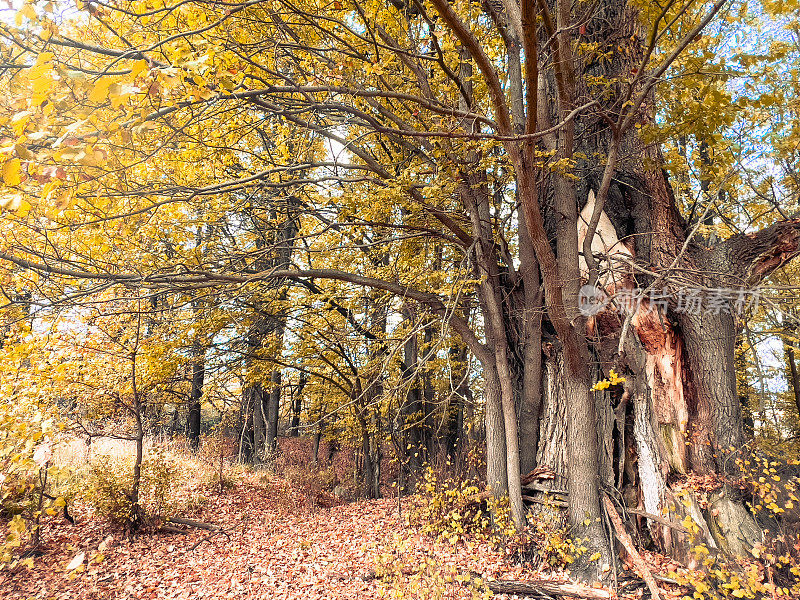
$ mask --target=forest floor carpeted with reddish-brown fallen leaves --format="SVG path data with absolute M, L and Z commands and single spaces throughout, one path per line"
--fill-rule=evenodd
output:
M 128 539 L 81 506 L 73 509 L 75 525 L 48 517 L 44 554 L 32 568 L 0 572 L 0 598 L 456 599 L 489 596 L 452 581 L 456 574 L 543 578 L 488 543 L 453 546 L 422 536 L 398 515 L 396 498 L 320 508 L 265 472 L 206 494 L 182 516 L 224 533 L 190 528 Z M 81 566 L 68 571 L 81 554 Z

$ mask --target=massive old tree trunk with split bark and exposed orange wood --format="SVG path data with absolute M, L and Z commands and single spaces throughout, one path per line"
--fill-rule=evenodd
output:
M 557 14 L 558 6 L 563 8 L 563 4 L 557 3 L 554 9 Z M 639 20 L 635 9 L 618 0 L 604 0 L 594 15 L 581 32 L 585 38 L 582 41 L 596 42 L 597 56 L 609 58 L 589 57 L 576 63 L 578 87 L 574 102 L 566 107 L 546 102 L 549 97 L 557 97 L 563 104 L 565 99 L 572 98 L 564 92 L 563 81 L 557 81 L 552 74 L 545 75 L 541 87 L 546 94 L 540 95 L 540 102 L 545 105 L 541 113 L 544 119 L 563 120 L 566 109 L 592 99 L 599 99 L 606 116 L 621 110 L 618 103 L 627 90 L 624 81 L 631 72 L 636 72 L 643 56 Z M 560 35 L 569 35 L 561 31 Z M 619 50 L 622 46 L 625 51 Z M 566 44 L 562 50 L 565 48 Z M 566 60 L 566 55 L 562 54 L 562 58 Z M 608 94 L 598 97 L 596 89 L 585 85 L 590 78 L 597 77 L 611 82 Z M 652 103 L 646 101 L 637 115 L 639 123 L 645 124 L 652 118 L 651 109 Z M 684 280 L 690 282 L 689 287 L 696 289 L 741 289 L 742 282 L 752 284 L 788 260 L 797 252 L 798 245 L 796 225 L 772 228 L 769 235 L 755 236 L 757 239 L 738 236 L 711 250 L 687 241 L 686 225 L 678 214 L 666 175 L 659 167 L 664 164 L 659 149 L 645 146 L 635 127 L 629 127 L 621 136 L 613 133 L 606 119 L 598 114 L 580 116 L 575 120 L 574 137 L 570 127 L 565 126 L 555 139 L 542 140 L 558 156 L 572 156 L 574 140 L 575 150 L 586 158 L 579 163 L 581 183 L 577 189 L 572 188 L 570 180 L 553 175 L 548 178 L 550 192 L 544 195 L 544 202 L 542 197 L 537 200 L 545 207 L 547 237 L 555 239 L 558 259 L 558 264 L 552 265 L 548 262 L 547 248 L 536 248 L 548 298 L 548 316 L 558 338 L 549 346 L 546 363 L 537 458 L 540 464 L 553 468 L 557 477 L 567 478 L 574 525 L 587 515 L 592 518 L 600 515 L 596 484 L 601 481 L 608 482 L 609 478 L 616 481 L 630 492 L 625 493 L 628 501 L 658 514 L 674 501 L 668 481 L 691 470 L 729 472 L 732 452 L 745 441 L 733 362 L 734 317 L 730 311 L 709 311 L 707 307 L 694 312 L 680 311 L 674 290 L 665 288 L 662 281 L 656 282 L 655 290 L 664 294 L 663 302 L 623 306 L 621 315 L 608 309 L 589 319 L 588 333 L 601 368 L 591 376 L 588 369 L 584 370 L 589 362 L 586 337 L 581 319 L 571 312 L 577 306 L 575 296 L 580 285 L 580 278 L 573 275 L 575 224 L 581 229 L 580 221 L 574 219 L 575 207 L 587 204 L 594 194 L 605 203 L 601 221 L 606 219 L 611 231 L 601 231 L 603 225 L 598 225 L 595 235 L 600 240 L 601 254 L 635 257 L 650 272 L 669 274 L 678 269 Z M 541 127 L 547 124 L 544 122 Z M 598 156 L 609 157 L 610 162 L 598 160 Z M 607 164 L 613 168 L 607 168 Z M 526 223 L 538 243 L 536 240 L 541 236 L 536 229 L 537 211 L 525 206 L 526 198 L 534 202 L 536 185 L 533 180 L 527 181 L 528 176 L 522 170 L 517 171 Z M 610 186 L 602 189 L 608 181 Z M 587 208 L 584 228 L 595 212 L 593 206 Z M 621 239 L 624 245 L 609 243 L 606 237 L 609 233 L 615 238 L 612 241 Z M 592 238 L 587 242 L 593 253 L 596 241 Z M 580 260 L 586 268 L 582 273 L 585 281 L 592 276 L 587 265 L 594 261 L 588 256 L 581 256 Z M 608 266 L 619 273 L 620 263 Z M 558 280 L 554 274 L 559 276 Z M 634 277 L 631 271 L 597 282 L 613 295 L 647 287 L 654 280 L 638 273 Z M 554 291 L 562 294 L 566 315 L 559 313 L 557 299 L 550 297 Z M 564 316 L 572 327 L 559 322 Z M 620 342 L 623 333 L 626 339 Z M 617 352 L 618 348 L 624 350 Z M 628 377 L 624 389 L 604 398 L 596 397 L 596 404 L 587 402 L 588 387 L 607 376 L 610 368 L 624 370 Z M 596 424 L 607 423 L 612 408 L 614 425 L 601 427 L 605 432 L 598 440 L 594 435 Z M 559 442 L 556 431 L 565 422 L 567 439 Z M 612 435 L 611 431 L 614 444 L 609 446 L 607 436 Z M 609 455 L 614 458 L 611 462 L 607 461 Z M 689 504 L 685 510 L 681 509 L 683 514 L 701 521 L 701 530 L 707 532 L 712 545 L 741 554 L 759 537 L 752 516 L 727 486 L 712 496 L 713 509 L 708 513 L 701 513 L 696 502 L 690 500 Z M 650 528 L 657 543 L 676 554 L 685 553 L 685 540 L 679 539 L 680 536 L 656 523 L 651 522 Z M 598 538 L 590 543 L 596 541 L 602 545 L 601 535 L 597 529 L 589 532 L 590 538 Z

